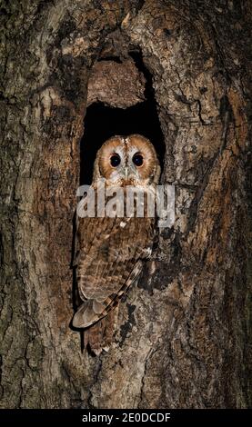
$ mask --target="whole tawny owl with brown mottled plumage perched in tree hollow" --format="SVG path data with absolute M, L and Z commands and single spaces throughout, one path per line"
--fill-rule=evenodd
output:
M 148 216 L 146 198 L 144 214 L 126 214 L 126 189 L 136 188 L 155 194 L 160 176 L 153 144 L 140 134 L 113 136 L 98 150 L 92 189 L 96 196 L 102 183 L 106 193 L 119 188 L 123 214 L 104 216 L 77 215 L 76 281 L 79 306 L 73 318 L 75 328 L 84 329 L 85 343 L 94 353 L 107 350 L 113 335 L 118 303 L 129 286 L 136 283 L 145 260 L 150 257 L 155 235 L 155 215 Z M 105 196 L 105 203 L 111 194 Z M 85 197 L 84 197 L 85 201 Z M 85 206 L 85 204 L 83 205 Z M 107 337 L 106 337 L 107 338 Z

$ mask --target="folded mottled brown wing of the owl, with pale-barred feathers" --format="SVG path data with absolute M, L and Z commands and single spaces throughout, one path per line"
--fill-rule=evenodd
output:
M 76 328 L 96 323 L 116 307 L 142 270 L 152 233 L 148 218 L 79 220 L 77 281 L 84 303 L 73 319 Z

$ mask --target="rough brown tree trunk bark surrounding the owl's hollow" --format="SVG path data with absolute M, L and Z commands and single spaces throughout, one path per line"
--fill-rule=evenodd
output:
M 1 407 L 249 406 L 249 2 L 0 13 Z M 119 55 L 126 70 L 131 50 L 153 76 L 176 223 L 121 304 L 110 352 L 92 358 L 69 327 L 79 141 L 92 66 Z

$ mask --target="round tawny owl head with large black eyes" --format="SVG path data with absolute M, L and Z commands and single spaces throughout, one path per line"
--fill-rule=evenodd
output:
M 104 178 L 106 185 L 157 184 L 160 166 L 153 144 L 140 134 L 113 136 L 96 155 L 93 182 Z

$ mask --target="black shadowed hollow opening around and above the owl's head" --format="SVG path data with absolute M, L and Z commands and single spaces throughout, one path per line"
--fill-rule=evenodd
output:
M 146 101 L 126 109 L 100 102 L 87 107 L 85 133 L 80 144 L 80 184 L 91 184 L 96 152 L 106 139 L 115 134 L 146 136 L 154 144 L 161 167 L 163 165 L 165 143 L 156 111 L 152 75 L 146 69 L 141 54 L 134 52 L 130 53 L 130 56 L 146 78 Z M 111 58 L 105 58 L 103 61 L 108 59 Z

